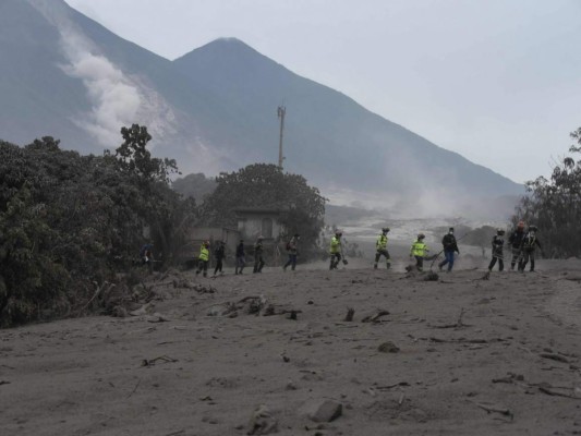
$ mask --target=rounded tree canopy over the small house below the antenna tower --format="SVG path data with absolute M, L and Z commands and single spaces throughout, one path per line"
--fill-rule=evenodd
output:
M 315 251 L 326 198 L 316 187 L 310 186 L 304 177 L 283 173 L 275 165 L 255 164 L 221 173 L 216 182 L 216 190 L 203 205 L 205 223 L 235 227 L 234 210 L 239 208 L 278 209 L 282 211 L 283 238 L 299 233 L 304 257 Z

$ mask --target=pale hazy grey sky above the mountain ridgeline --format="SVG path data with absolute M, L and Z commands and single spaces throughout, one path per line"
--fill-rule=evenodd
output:
M 168 59 L 237 37 L 517 182 L 581 126 L 581 0 L 66 2 Z

